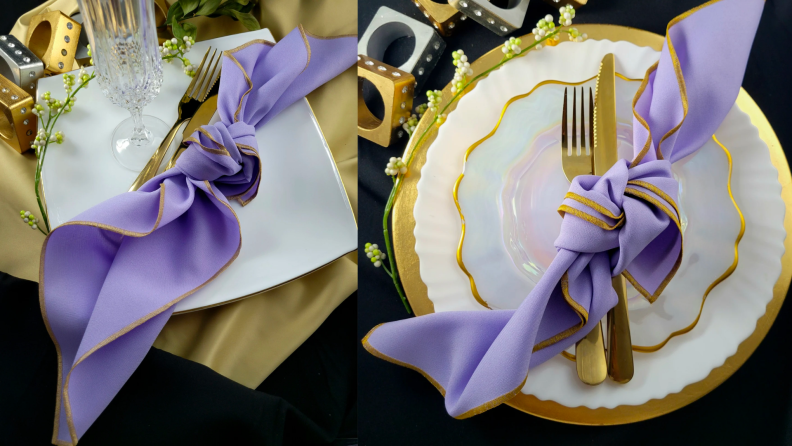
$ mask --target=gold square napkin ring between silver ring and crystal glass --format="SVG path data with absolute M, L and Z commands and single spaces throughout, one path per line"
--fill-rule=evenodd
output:
M 72 70 L 77 55 L 82 25 L 60 11 L 33 16 L 27 35 L 27 47 L 42 62 L 47 74 Z

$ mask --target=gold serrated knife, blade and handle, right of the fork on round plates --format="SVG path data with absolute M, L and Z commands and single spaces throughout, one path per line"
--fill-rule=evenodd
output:
M 603 175 L 619 161 L 616 138 L 616 61 L 613 54 L 602 58 L 597 75 L 594 107 L 594 175 Z M 618 301 L 608 311 L 608 376 L 618 383 L 633 377 L 634 364 L 630 319 L 627 315 L 627 282 L 619 275 L 612 280 Z

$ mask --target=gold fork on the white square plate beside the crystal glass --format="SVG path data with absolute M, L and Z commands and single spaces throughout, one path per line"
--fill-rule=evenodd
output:
M 206 51 L 203 59 L 201 59 L 201 64 L 198 66 L 198 70 L 196 71 L 192 82 L 190 82 L 190 85 L 184 92 L 184 96 L 182 96 L 181 100 L 179 101 L 179 114 L 178 118 L 176 119 L 176 123 L 173 124 L 173 127 L 171 127 L 170 131 L 165 136 L 165 139 L 162 140 L 162 144 L 160 144 L 154 154 L 151 155 L 151 159 L 146 164 L 146 166 L 143 167 L 143 170 L 140 171 L 140 174 L 135 179 L 135 182 L 132 183 L 132 186 L 129 188 L 130 191 L 138 190 L 138 188 L 145 184 L 146 181 L 154 178 L 157 175 L 159 166 L 162 164 L 162 160 L 165 158 L 165 153 L 168 151 L 168 147 L 170 147 L 171 143 L 173 142 L 173 138 L 176 136 L 179 127 L 192 119 L 192 117 L 195 115 L 195 112 L 198 111 L 198 108 L 206 100 L 206 96 L 212 89 L 212 86 L 220 77 L 220 69 L 218 67 L 222 68 L 220 64 L 222 53 L 220 53 L 218 56 L 217 50 L 214 50 L 214 52 L 212 52 L 212 56 L 209 58 L 209 62 L 206 63 L 206 57 L 210 52 L 212 52 L 211 47 Z

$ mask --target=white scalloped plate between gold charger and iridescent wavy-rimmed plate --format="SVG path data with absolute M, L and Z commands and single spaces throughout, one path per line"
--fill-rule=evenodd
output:
M 616 70 L 629 78 L 642 78 L 659 57 L 651 48 L 607 40 L 565 42 L 533 52 L 479 82 L 440 128 L 428 148 L 414 208 L 421 279 L 436 312 L 488 311 L 476 302 L 456 262 L 461 224 L 451 191 L 462 171 L 464 152 L 495 127 L 510 98 L 543 80 L 579 82 L 595 76 L 607 53 L 616 55 Z M 767 145 L 736 106 L 715 135 L 731 151 L 732 194 L 745 217 L 745 234 L 736 270 L 711 292 L 696 328 L 656 353 L 636 353 L 635 377 L 627 384 L 606 380 L 586 386 L 572 363 L 557 356 L 531 371 L 523 393 L 568 407 L 643 404 L 701 381 L 753 332 L 781 272 L 786 236 L 781 185 Z

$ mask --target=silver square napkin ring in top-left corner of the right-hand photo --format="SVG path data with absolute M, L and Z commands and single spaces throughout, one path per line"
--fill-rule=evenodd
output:
M 411 73 L 418 82 L 415 89 L 420 90 L 445 50 L 445 41 L 431 26 L 382 6 L 360 37 L 358 54 L 383 60 L 385 50 L 400 37 L 415 38 L 410 58 L 398 68 Z

